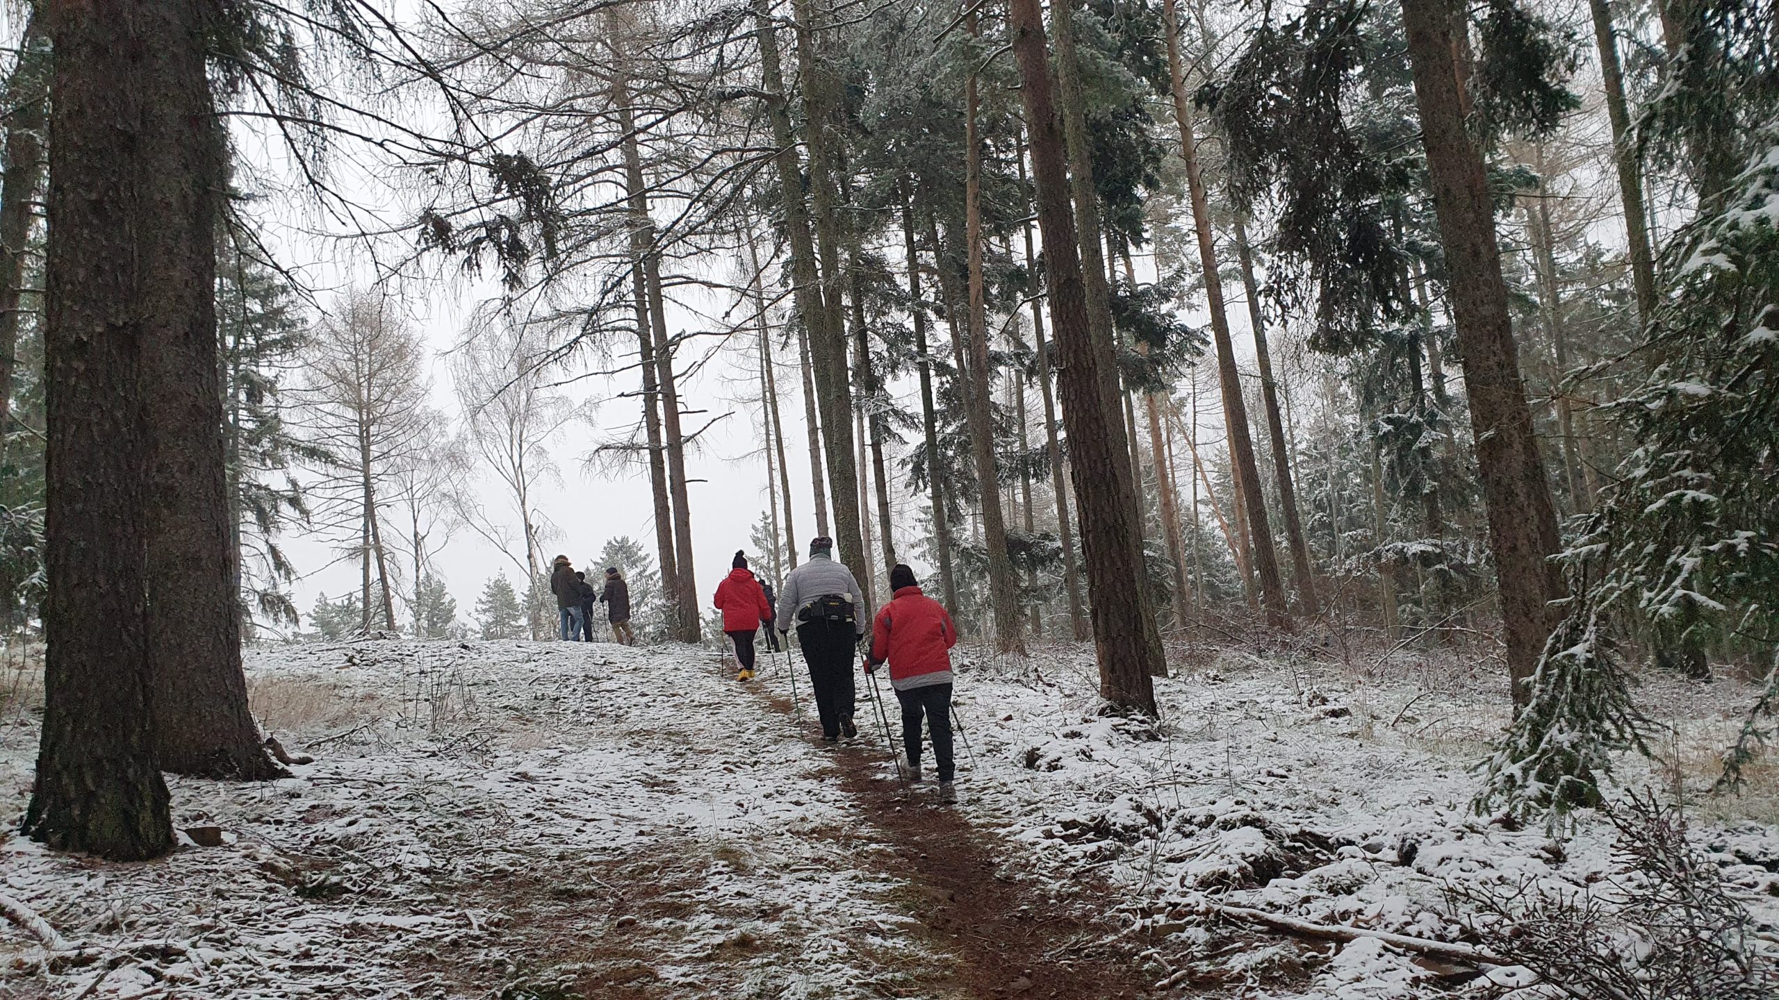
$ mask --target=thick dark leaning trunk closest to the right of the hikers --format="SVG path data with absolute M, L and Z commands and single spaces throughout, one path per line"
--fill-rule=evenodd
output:
M 1092 512 L 1082 516 L 1080 528 L 1099 658 L 1099 694 L 1114 705 L 1153 715 L 1151 674 L 1163 671 L 1165 664 L 1155 614 L 1144 596 L 1142 564 L 1130 557 L 1137 496 L 1130 477 L 1119 470 L 1124 441 L 1115 411 L 1107 406 L 1108 379 L 1089 327 L 1062 128 L 1051 103 L 1050 57 L 1044 52 L 1044 21 L 1037 0 L 1012 0 L 1009 32 L 1019 66 L 1019 96 L 1037 185 L 1037 222 L 1044 238 L 1051 320 L 1062 361 L 1069 473 L 1082 511 Z

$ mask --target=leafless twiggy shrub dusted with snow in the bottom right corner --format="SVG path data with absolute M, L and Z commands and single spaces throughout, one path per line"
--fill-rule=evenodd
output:
M 1558 996 L 1779 996 L 1779 956 L 1686 840 L 1679 810 L 1631 795 L 1606 815 L 1619 831 L 1608 879 L 1574 891 L 1532 881 L 1450 884 L 1453 911 L 1468 911 L 1462 923 L 1489 952 L 1535 972 Z

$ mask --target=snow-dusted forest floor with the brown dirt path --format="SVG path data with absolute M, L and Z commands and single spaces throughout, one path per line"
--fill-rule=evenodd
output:
M 169 778 L 176 826 L 221 843 L 146 865 L 7 835 L 0 895 L 62 948 L 0 922 L 0 995 L 1498 996 L 1523 970 L 1219 907 L 1464 941 L 1477 891 L 1582 891 L 1615 865 L 1599 817 L 1558 845 L 1469 810 L 1507 717 L 1477 655 L 1195 644 L 1153 726 L 1094 715 L 1080 646 L 964 653 L 955 806 L 900 786 L 868 701 L 859 740 L 811 742 L 783 664 L 744 687 L 687 646 L 254 649 L 256 715 L 313 763 Z M 18 817 L 37 715 L 28 678 L 5 680 Z M 1649 683 L 1678 735 L 1621 781 L 1686 795 L 1775 947 L 1774 769 L 1701 794 L 1749 687 Z

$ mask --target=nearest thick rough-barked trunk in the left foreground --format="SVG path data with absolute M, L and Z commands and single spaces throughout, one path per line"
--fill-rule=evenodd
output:
M 155 760 L 144 577 L 141 365 L 185 270 L 197 181 L 181 144 L 213 144 L 197 4 L 57 0 L 50 84 L 43 742 L 27 836 L 144 859 L 173 849 Z M 199 133 L 194 135 L 194 130 Z M 206 219 L 208 221 L 208 219 Z M 171 286 L 171 288 L 169 288 Z M 210 294 L 210 286 L 203 286 Z M 212 340 L 213 340 L 212 331 Z M 105 628 L 94 628 L 103 609 Z M 233 610 L 233 600 L 228 603 Z

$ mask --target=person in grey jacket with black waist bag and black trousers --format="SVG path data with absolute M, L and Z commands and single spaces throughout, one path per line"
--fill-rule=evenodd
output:
M 859 735 L 852 724 L 857 705 L 852 664 L 866 621 L 865 593 L 852 571 L 834 562 L 834 539 L 811 539 L 809 560 L 792 569 L 779 589 L 777 630 L 797 630 L 827 742 L 841 733 Z

